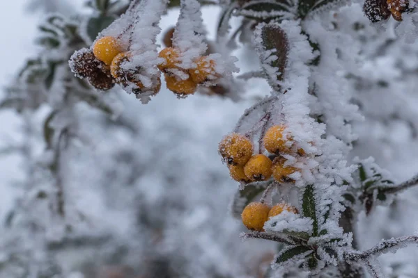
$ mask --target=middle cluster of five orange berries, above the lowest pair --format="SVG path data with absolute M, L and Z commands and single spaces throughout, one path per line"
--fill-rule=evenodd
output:
M 249 136 L 231 133 L 219 143 L 219 154 L 228 163 L 231 177 L 235 181 L 249 183 L 265 181 L 273 177 L 279 183 L 292 181 L 289 177 L 297 172 L 296 167 L 286 165 L 283 154 L 305 154 L 304 150 L 295 149 L 293 138 L 286 133 L 286 126 L 271 126 L 263 136 L 263 146 L 272 154 L 254 154 L 253 143 Z

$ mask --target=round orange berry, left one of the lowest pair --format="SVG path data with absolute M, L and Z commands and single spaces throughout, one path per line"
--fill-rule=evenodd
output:
M 264 231 L 264 223 L 268 220 L 270 207 L 261 202 L 249 203 L 242 211 L 242 223 L 250 230 Z

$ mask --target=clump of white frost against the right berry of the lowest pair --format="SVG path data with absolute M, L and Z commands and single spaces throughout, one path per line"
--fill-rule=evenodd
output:
M 265 222 L 264 229 L 265 231 L 296 231 L 311 234 L 312 223 L 311 218 L 304 218 L 285 210 Z

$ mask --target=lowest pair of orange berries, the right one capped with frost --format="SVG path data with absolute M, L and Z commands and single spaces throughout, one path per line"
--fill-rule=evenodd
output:
M 283 211 L 297 213 L 297 209 L 294 206 L 285 203 L 270 207 L 263 202 L 252 202 L 245 206 L 244 211 L 242 211 L 242 223 L 250 230 L 264 231 L 264 223 Z

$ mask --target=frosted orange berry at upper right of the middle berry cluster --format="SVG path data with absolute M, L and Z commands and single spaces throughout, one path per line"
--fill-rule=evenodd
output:
M 286 145 L 286 142 L 292 141 L 292 138 L 289 134 L 284 138 L 285 129 L 286 126 L 284 125 L 275 125 L 265 132 L 263 143 L 268 152 L 272 154 L 288 154 L 291 152 L 291 148 Z

